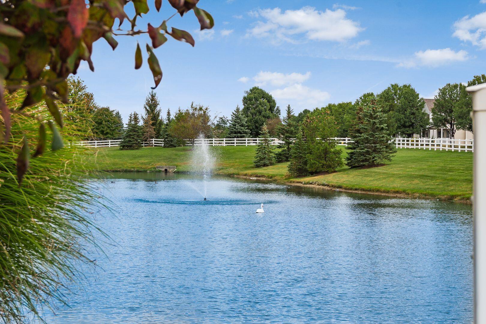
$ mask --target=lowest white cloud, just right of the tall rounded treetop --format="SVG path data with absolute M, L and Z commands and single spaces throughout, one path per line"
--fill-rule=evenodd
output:
M 324 103 L 330 98 L 330 94 L 326 91 L 312 89 L 301 84 L 289 85 L 283 89 L 276 89 L 271 91 L 271 94 L 277 100 L 294 100 L 299 103 L 314 106 L 324 106 Z

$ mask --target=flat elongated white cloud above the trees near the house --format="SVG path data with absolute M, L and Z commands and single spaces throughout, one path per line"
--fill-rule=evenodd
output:
M 399 63 L 399 67 L 414 68 L 418 66 L 435 68 L 453 62 L 462 62 L 468 59 L 468 52 L 453 51 L 450 48 L 440 50 L 417 51 L 414 57 Z

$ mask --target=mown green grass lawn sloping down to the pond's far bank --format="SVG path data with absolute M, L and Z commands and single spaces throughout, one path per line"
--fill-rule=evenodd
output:
M 254 146 L 210 149 L 217 156 L 218 174 L 260 176 L 285 182 L 448 200 L 469 200 L 471 196 L 472 153 L 468 152 L 399 149 L 393 160 L 382 167 L 344 167 L 331 174 L 286 178 L 287 163 L 254 168 Z M 343 156 L 346 154 L 343 148 Z M 191 171 L 190 161 L 190 147 L 150 147 L 134 151 L 105 148 L 97 149 L 96 154 L 96 168 L 103 171 L 147 171 L 154 170 L 157 165 L 175 165 L 178 171 Z

